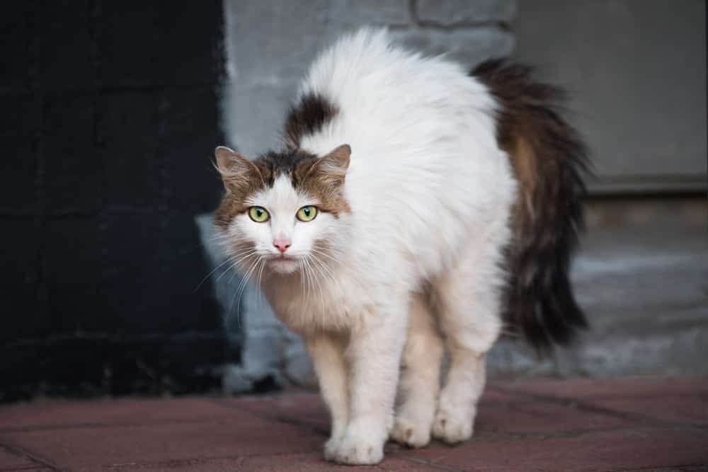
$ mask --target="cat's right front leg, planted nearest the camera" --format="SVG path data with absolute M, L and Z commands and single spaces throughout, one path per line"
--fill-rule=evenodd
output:
M 336 462 L 378 464 L 384 458 L 405 337 L 405 303 L 365 313 L 352 330 L 346 351 L 349 425 L 334 455 Z

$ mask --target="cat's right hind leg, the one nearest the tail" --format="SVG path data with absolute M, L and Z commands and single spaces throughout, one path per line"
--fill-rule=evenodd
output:
M 486 352 L 501 330 L 498 267 L 505 241 L 485 238 L 435 284 L 440 326 L 450 354 L 450 370 L 440 393 L 433 437 L 449 444 L 472 436 L 476 405 L 486 381 Z

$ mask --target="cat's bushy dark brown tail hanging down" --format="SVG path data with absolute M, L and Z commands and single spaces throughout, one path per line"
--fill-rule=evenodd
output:
M 568 278 L 583 227 L 586 148 L 559 114 L 564 94 L 533 81 L 530 67 L 488 61 L 472 71 L 501 106 L 497 139 L 519 183 L 508 248 L 505 321 L 537 350 L 567 345 L 587 327 Z

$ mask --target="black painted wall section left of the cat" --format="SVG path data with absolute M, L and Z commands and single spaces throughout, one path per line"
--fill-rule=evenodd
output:
M 220 1 L 0 7 L 0 400 L 217 386 L 194 217 L 221 190 L 222 23 Z

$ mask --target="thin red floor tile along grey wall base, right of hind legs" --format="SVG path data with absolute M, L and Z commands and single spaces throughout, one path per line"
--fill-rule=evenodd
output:
M 614 380 L 535 380 L 510 383 L 491 382 L 491 388 L 560 398 L 641 397 L 683 393 L 708 393 L 708 379 L 637 377 Z

